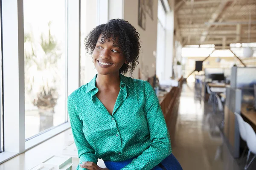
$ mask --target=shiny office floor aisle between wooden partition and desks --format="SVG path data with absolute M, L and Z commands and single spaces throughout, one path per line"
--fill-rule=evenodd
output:
M 183 85 L 173 154 L 184 170 L 223 170 L 218 151 L 221 136 L 212 121 L 211 107 L 205 109 L 200 96 L 194 84 Z

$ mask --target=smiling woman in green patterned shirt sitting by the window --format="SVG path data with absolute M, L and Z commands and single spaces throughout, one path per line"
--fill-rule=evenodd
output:
M 78 170 L 180 170 L 158 99 L 148 82 L 125 77 L 138 63 L 139 33 L 125 20 L 97 26 L 85 39 L 98 74 L 68 97 Z M 176 167 L 174 167 L 176 166 Z M 107 170 L 108 170 L 107 169 Z

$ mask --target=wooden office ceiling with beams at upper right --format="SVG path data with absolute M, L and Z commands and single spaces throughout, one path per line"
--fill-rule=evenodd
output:
M 183 45 L 256 42 L 256 0 L 175 0 L 175 35 Z

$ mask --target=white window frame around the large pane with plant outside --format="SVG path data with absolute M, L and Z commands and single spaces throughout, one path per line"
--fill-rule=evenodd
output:
M 66 0 L 66 103 L 67 96 L 80 85 L 80 1 Z M 3 121 L 8 123 L 3 127 L 5 148 L 0 153 L 0 164 L 70 128 L 66 108 L 66 123 L 25 140 L 23 0 L 2 0 L 1 3 L 3 113 L 6 113 Z

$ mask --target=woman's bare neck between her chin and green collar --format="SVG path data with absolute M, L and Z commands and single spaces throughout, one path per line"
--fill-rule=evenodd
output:
M 120 85 L 119 73 L 102 75 L 98 74 L 96 77 L 97 88 L 111 88 Z

